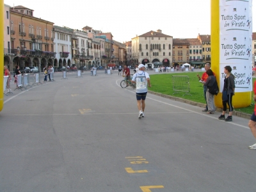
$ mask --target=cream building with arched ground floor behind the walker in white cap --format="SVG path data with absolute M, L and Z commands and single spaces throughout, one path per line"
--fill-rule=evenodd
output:
M 132 58 L 134 63 L 154 63 L 169 67 L 172 65 L 173 37 L 164 35 L 159 29 L 132 38 Z M 151 68 L 150 64 L 148 65 Z

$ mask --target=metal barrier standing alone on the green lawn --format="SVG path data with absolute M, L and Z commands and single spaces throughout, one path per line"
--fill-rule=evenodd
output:
M 185 92 L 184 95 L 191 95 L 191 94 L 189 94 L 190 89 L 189 89 L 189 77 L 188 76 L 172 76 L 172 83 L 173 83 L 174 93 Z M 182 95 L 182 96 L 184 96 L 184 95 Z

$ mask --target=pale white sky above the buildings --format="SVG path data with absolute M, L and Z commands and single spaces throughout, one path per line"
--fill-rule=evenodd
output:
M 90 26 L 111 32 L 118 42 L 157 29 L 173 38 L 196 38 L 198 33 L 211 35 L 211 0 L 4 0 L 4 4 L 30 8 L 34 17 L 56 26 L 79 30 Z M 256 13 L 256 5 L 252 11 Z M 252 26 L 256 31 L 256 19 Z

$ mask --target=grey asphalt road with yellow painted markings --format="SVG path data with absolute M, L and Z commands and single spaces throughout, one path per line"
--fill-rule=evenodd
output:
M 117 71 L 61 76 L 4 96 L 0 191 L 256 191 L 247 119 L 149 93 L 138 119 Z

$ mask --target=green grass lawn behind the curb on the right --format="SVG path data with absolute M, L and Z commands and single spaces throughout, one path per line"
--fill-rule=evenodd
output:
M 157 93 L 163 93 L 165 95 L 172 95 L 173 97 L 180 97 L 183 99 L 193 100 L 195 102 L 200 102 L 205 104 L 204 100 L 204 90 L 203 84 L 198 82 L 198 77 L 196 74 L 202 76 L 203 72 L 184 72 L 179 74 L 157 74 L 150 75 L 150 83 L 152 84 L 151 88 L 148 90 Z M 175 93 L 173 95 L 173 80 L 172 76 L 188 76 L 189 77 L 189 88 L 190 94 L 192 95 L 184 95 L 184 92 Z M 253 78 L 253 82 L 256 78 Z M 184 95 L 184 96 L 182 96 Z M 253 92 L 252 92 L 252 104 L 247 108 L 236 108 L 236 111 L 241 111 L 243 113 L 251 114 L 254 109 L 254 101 L 253 101 Z

